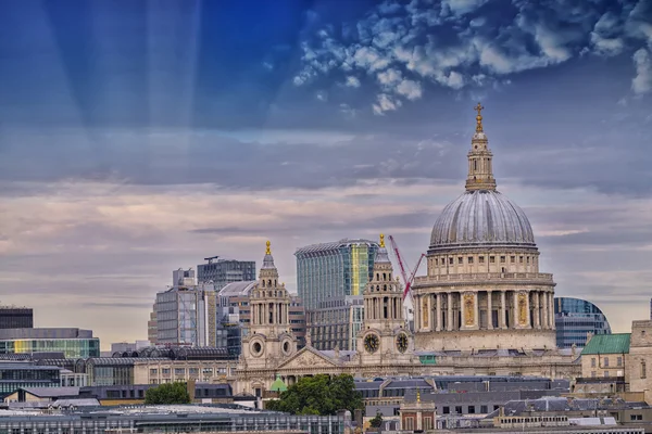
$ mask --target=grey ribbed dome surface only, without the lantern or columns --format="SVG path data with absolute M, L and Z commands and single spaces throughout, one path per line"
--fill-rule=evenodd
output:
M 471 190 L 448 204 L 432 228 L 430 250 L 535 246 L 527 216 L 496 190 Z

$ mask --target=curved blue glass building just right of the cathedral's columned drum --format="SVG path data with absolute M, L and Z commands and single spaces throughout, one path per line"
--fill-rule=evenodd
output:
M 559 348 L 584 347 L 587 335 L 611 334 L 611 326 L 602 310 L 580 298 L 554 298 L 554 324 Z

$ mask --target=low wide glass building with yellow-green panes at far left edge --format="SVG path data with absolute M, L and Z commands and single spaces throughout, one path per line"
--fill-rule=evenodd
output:
M 63 353 L 66 358 L 98 357 L 92 330 L 74 328 L 1 329 L 0 354 Z

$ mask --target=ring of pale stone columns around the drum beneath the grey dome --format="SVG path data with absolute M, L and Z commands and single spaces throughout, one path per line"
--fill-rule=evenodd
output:
M 414 297 L 415 331 L 554 329 L 553 290 L 439 291 Z

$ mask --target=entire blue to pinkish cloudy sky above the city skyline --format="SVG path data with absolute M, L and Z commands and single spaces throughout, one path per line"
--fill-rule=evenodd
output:
M 556 294 L 649 318 L 652 0 L 2 2 L 0 303 L 106 348 L 266 240 L 291 291 L 312 243 L 414 266 L 478 101 Z

